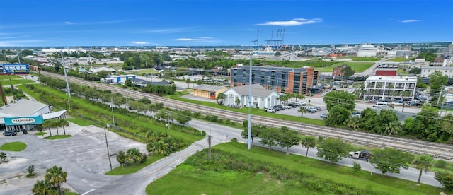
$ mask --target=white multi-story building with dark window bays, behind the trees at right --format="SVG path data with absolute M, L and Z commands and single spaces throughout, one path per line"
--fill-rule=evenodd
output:
M 365 81 L 365 95 L 363 100 L 402 100 L 403 91 L 410 92 L 404 95 L 404 100 L 413 100 L 417 77 L 410 76 L 369 76 Z

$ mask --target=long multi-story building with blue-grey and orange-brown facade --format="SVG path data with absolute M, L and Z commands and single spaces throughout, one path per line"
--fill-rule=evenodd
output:
M 248 85 L 250 76 L 249 66 L 237 66 L 231 69 L 231 87 Z M 319 72 L 314 67 L 300 69 L 281 67 L 252 67 L 252 84 L 259 83 L 266 89 L 278 93 L 309 94 L 311 88 L 318 84 Z

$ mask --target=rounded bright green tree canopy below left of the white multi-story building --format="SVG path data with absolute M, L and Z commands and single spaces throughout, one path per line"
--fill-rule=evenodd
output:
M 324 96 L 327 110 L 335 105 L 343 105 L 347 110 L 354 110 L 355 108 L 355 95 L 345 91 L 333 90 Z

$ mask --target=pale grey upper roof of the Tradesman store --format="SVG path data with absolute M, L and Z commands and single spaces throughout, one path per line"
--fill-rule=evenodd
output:
M 47 105 L 31 100 L 18 100 L 10 105 L 0 107 L 0 117 L 33 116 Z

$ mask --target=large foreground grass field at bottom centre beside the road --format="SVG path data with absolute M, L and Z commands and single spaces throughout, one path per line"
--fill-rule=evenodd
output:
M 285 155 L 242 143 L 223 143 L 197 153 L 168 175 L 147 186 L 147 194 L 439 194 L 442 189 L 418 186 L 386 175 L 370 174 L 352 167 Z M 222 163 L 224 155 L 236 156 Z M 241 159 L 241 160 L 236 160 Z M 202 164 L 202 165 L 200 165 Z M 253 165 L 264 165 L 254 169 Z M 231 169 L 229 167 L 243 167 Z M 280 179 L 278 179 L 280 178 Z M 286 179 L 285 179 L 286 178 Z M 174 182 L 178 181 L 178 182 Z

